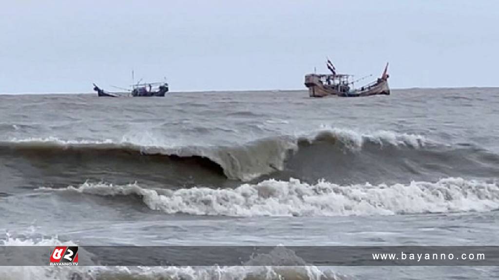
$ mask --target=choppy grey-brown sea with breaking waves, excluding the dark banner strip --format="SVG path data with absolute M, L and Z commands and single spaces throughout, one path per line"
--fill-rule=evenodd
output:
M 498 88 L 0 96 L 1 245 L 499 245 L 498 178 Z M 0 268 L 47 280 L 498 278 L 497 267 Z

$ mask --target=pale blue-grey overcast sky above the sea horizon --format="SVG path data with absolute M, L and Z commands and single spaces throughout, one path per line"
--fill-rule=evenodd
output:
M 0 9 L 0 92 L 301 89 L 303 75 L 499 86 L 496 0 L 15 0 Z M 368 82 L 367 80 L 364 80 Z M 111 88 L 110 88 L 111 89 Z

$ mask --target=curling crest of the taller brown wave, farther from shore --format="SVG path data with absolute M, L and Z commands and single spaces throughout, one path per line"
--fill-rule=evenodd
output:
M 265 138 L 235 146 L 164 146 L 148 143 L 146 145 L 130 141 L 91 141 L 91 140 L 59 140 L 57 138 L 13 139 L 0 142 L 0 151 L 5 149 L 22 149 L 41 153 L 116 153 L 165 155 L 170 158 L 197 158 L 212 169 L 220 168 L 229 179 L 250 181 L 259 176 L 282 171 L 290 155 L 299 152 L 302 147 L 325 143 L 335 145 L 335 149 L 358 151 L 366 144 L 378 148 L 404 146 L 410 148 L 424 147 L 429 143 L 424 136 L 415 134 L 398 134 L 390 131 L 378 131 L 362 134 L 346 129 L 324 129 L 304 136 L 282 136 Z M 211 163 L 209 163 L 209 162 Z

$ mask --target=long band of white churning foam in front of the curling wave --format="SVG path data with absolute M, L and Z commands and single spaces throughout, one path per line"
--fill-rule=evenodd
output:
M 80 186 L 40 190 L 73 191 L 100 196 L 142 197 L 150 209 L 168 214 L 224 216 L 394 215 L 491 211 L 499 208 L 497 182 L 445 178 L 437 182 L 341 186 L 297 179 L 265 180 L 236 189 L 149 189 L 138 184 L 85 182 Z

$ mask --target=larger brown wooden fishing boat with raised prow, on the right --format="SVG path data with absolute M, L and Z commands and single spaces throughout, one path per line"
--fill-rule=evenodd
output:
M 331 74 L 314 73 L 305 75 L 305 86 L 308 88 L 310 97 L 324 97 L 329 95 L 359 97 L 390 94 L 390 87 L 388 86 L 388 78 L 390 77 L 388 75 L 388 63 L 386 63 L 381 78 L 358 89 L 354 88 L 354 83 L 372 75 L 350 82 L 349 79 L 353 75 L 336 74 L 336 68 L 329 59 L 327 59 L 327 68 L 331 71 Z

